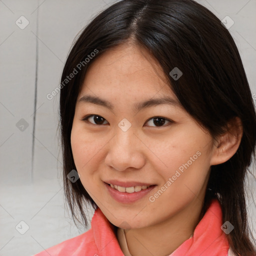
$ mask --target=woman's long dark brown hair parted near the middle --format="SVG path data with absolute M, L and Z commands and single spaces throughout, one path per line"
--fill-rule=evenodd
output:
M 218 198 L 223 223 L 228 220 L 234 226 L 227 235 L 231 249 L 236 255 L 256 255 L 249 238 L 252 235 L 244 185 L 245 176 L 250 173 L 248 167 L 255 160 L 252 95 L 230 33 L 211 11 L 193 0 L 122 0 L 101 11 L 75 39 L 61 81 L 77 70 L 79 63 L 83 65 L 62 84 L 59 108 L 64 190 L 74 221 L 78 220 L 78 211 L 87 225 L 88 202 L 94 209 L 97 207 L 79 179 L 73 183 L 67 178 L 76 169 L 70 133 L 77 96 L 88 66 L 110 47 L 130 40 L 155 57 L 184 109 L 213 139 L 225 132 L 233 117 L 241 119 L 243 135 L 236 153 L 226 162 L 211 166 L 202 213 L 212 198 Z M 98 53 L 84 61 L 95 49 Z M 178 80 L 169 75 L 174 67 L 183 73 Z

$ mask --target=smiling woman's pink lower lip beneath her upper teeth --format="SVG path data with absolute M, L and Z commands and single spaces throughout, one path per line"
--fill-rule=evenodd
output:
M 110 195 L 118 202 L 121 203 L 132 203 L 137 201 L 138 199 L 145 196 L 149 191 L 151 191 L 156 185 L 149 186 L 146 189 L 141 189 L 139 192 L 133 192 L 133 193 L 127 193 L 127 192 L 120 192 L 114 188 L 112 188 L 110 185 L 104 182 L 104 185 L 106 186 L 108 192 Z

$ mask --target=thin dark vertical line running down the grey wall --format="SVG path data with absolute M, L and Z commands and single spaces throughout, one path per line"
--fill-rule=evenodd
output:
M 36 39 L 35 39 L 35 82 L 34 82 L 34 114 L 33 114 L 33 136 L 32 136 L 32 161 L 31 161 L 31 182 L 33 182 L 33 163 L 34 163 L 34 134 L 35 134 L 35 117 L 36 117 L 36 101 L 37 101 L 37 74 L 38 74 L 38 12 L 39 0 L 37 1 L 36 10 Z

